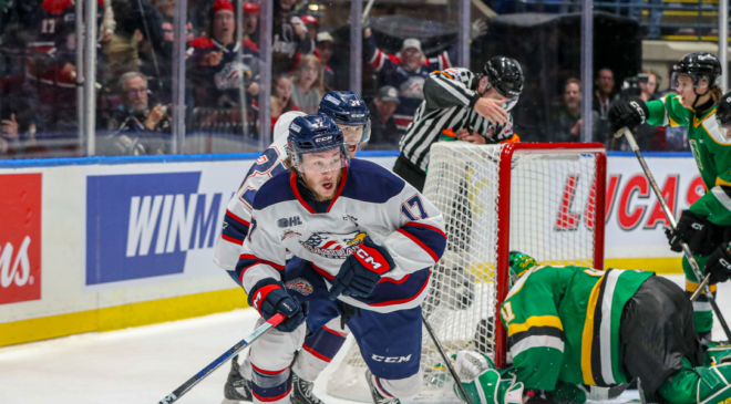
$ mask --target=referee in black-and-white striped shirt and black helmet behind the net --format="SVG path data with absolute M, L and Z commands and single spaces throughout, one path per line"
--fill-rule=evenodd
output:
M 401 137 L 393 172 L 424 189 L 429 149 L 440 134 L 474 144 L 516 142 L 509 114 L 523 91 L 523 71 L 514 59 L 495 56 L 475 75 L 467 69 L 435 71 L 424 83 L 424 102 Z

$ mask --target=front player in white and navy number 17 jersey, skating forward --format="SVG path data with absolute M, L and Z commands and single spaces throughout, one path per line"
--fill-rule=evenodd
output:
M 446 244 L 441 213 L 393 173 L 350 159 L 342 131 L 325 114 L 295 118 L 288 147 L 289 172 L 257 194 L 236 266 L 261 322 L 288 317 L 250 349 L 254 402 L 290 403 L 305 318 L 317 330 L 341 314 L 374 402 L 416 396 L 420 304 Z

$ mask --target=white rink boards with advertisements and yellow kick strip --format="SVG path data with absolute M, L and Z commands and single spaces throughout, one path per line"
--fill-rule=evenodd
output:
M 226 204 L 257 157 L 0 162 L 0 346 L 246 307 L 212 257 Z M 689 154 L 648 164 L 677 214 L 703 194 Z M 610 155 L 607 170 L 606 265 L 678 273 L 635 158 Z

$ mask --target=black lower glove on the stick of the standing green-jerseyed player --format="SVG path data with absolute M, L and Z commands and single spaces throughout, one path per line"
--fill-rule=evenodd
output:
M 670 249 L 682 252 L 680 245 L 688 244 L 690 251 L 694 255 L 709 255 L 715 247 L 713 240 L 717 227 L 704 217 L 698 216 L 690 210 L 683 210 L 675 229 L 666 227 L 665 235 L 668 237 Z

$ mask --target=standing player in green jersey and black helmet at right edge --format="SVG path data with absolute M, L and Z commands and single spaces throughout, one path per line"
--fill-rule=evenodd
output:
M 672 66 L 670 85 L 678 94 L 647 103 L 631 99 L 612 105 L 609 111 L 615 132 L 634 128 L 640 123 L 688 128 L 688 142 L 707 193 L 682 211 L 676 230 L 666 229 L 666 235 L 673 251 L 680 252 L 680 244 L 687 242 L 701 269 L 709 255 L 722 252 L 719 246 L 725 249 L 731 236 L 731 232 L 724 235 L 731 226 L 731 137 L 724 128 L 731 123 L 731 102 L 723 101 L 728 96 L 721 95 L 720 76 L 718 58 L 706 52 L 691 53 Z M 725 121 L 721 122 L 724 111 Z M 682 268 L 686 292 L 690 297 L 698 289 L 699 280 L 684 258 Z M 715 284 L 710 289 L 715 293 Z M 709 341 L 713 312 L 704 294 L 693 303 L 693 310 L 696 330 Z

